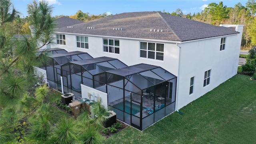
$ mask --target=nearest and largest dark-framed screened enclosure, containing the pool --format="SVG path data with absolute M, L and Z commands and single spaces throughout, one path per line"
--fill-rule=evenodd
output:
M 159 66 L 137 64 L 109 70 L 106 78 L 108 105 L 119 120 L 139 130 L 175 110 L 177 77 Z

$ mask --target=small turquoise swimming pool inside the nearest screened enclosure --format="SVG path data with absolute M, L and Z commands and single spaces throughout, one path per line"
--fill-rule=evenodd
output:
M 125 107 L 125 112 L 127 112 L 128 114 L 131 114 L 130 104 L 131 103 L 129 101 L 125 101 L 125 105 L 124 105 L 124 102 L 120 102 L 118 104 L 115 104 L 112 107 L 122 111 L 124 111 L 124 107 Z M 137 114 L 138 112 L 140 112 L 140 105 L 132 103 L 132 115 Z

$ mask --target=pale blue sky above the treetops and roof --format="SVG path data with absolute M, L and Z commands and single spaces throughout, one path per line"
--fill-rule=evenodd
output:
M 183 14 L 201 12 L 208 4 L 223 2 L 227 7 L 234 7 L 240 2 L 246 6 L 248 0 L 46 0 L 54 7 L 52 16 L 75 15 L 78 10 L 90 14 L 120 14 L 123 12 L 163 11 L 173 12 L 180 8 Z M 27 5 L 32 0 L 11 0 L 14 8 L 21 12 L 21 17 L 28 16 Z

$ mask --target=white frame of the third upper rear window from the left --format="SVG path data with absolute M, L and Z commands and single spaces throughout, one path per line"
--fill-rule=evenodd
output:
M 108 44 L 104 44 L 104 40 L 108 40 Z M 110 45 L 111 40 L 113 40 L 113 45 Z M 103 43 L 103 52 L 120 54 L 120 40 L 112 39 L 112 38 L 103 38 L 102 43 Z

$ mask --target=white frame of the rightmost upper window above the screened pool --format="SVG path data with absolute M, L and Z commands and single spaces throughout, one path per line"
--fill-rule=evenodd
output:
M 142 43 L 144 43 L 144 44 L 146 43 L 146 49 L 142 48 Z M 149 44 L 154 44 L 154 50 L 149 49 Z M 163 46 L 162 51 L 157 50 L 158 44 Z M 145 56 L 145 54 L 142 56 L 142 52 L 144 52 L 144 53 L 146 52 L 146 56 Z M 154 58 L 150 58 L 150 53 L 154 53 Z M 153 60 L 164 60 L 164 44 L 156 43 L 156 42 L 142 42 L 141 41 L 140 42 L 140 58 L 148 58 L 148 59 L 153 59 Z

